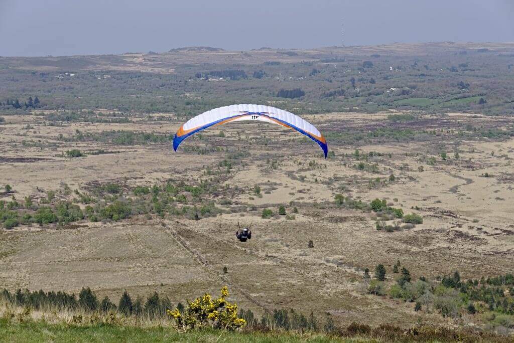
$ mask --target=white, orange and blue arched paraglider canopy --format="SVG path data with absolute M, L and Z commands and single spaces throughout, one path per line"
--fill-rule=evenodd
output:
M 177 151 L 183 140 L 196 132 L 208 127 L 222 125 L 233 121 L 253 120 L 278 124 L 300 132 L 318 143 L 323 150 L 325 158 L 328 154 L 328 145 L 321 132 L 306 120 L 293 115 L 283 109 L 265 105 L 230 105 L 211 109 L 188 120 L 182 124 L 173 138 L 173 149 Z

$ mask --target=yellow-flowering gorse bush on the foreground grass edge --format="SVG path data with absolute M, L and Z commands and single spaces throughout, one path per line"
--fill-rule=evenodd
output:
M 213 299 L 206 293 L 202 297 L 188 301 L 183 313 L 175 309 L 168 310 L 168 314 L 175 319 L 176 325 L 185 331 L 207 325 L 217 329 L 235 330 L 245 326 L 246 320 L 237 317 L 237 305 L 225 299 L 228 295 L 228 288 L 225 286 L 218 298 Z

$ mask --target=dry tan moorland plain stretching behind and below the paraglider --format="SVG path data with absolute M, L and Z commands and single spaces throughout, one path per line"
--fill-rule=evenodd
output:
M 228 284 L 232 299 L 257 313 L 295 308 L 332 314 L 337 323 L 480 324 L 481 317 L 444 318 L 430 308 L 414 312 L 412 302 L 366 294 L 363 271 L 369 268 L 373 274 L 382 263 L 389 283 L 394 282 L 391 271 L 397 260 L 415 279 L 455 270 L 465 279 L 512 272 L 514 140 L 473 135 L 472 127 L 502 130 L 514 121 L 450 113 L 394 122 L 388 119 L 391 114 L 304 116 L 327 135 L 334 155 L 326 160 L 314 143 L 265 124 L 216 127 L 189 138 L 175 153 L 169 141 L 117 144 L 87 138 L 111 130 L 168 136 L 181 121 L 167 113 L 162 114 L 169 117 L 166 122 L 134 115 L 128 123 L 58 126 L 49 126 L 36 113 L 5 117 L 0 125 L 0 186 L 11 185 L 12 192 L 0 193 L 2 200 L 14 196 L 39 202 L 51 191 L 56 196 L 50 203 L 74 201 L 78 193 L 93 194 L 95 185 L 106 182 L 123 189 L 169 180 L 212 182 L 215 189 L 202 197 L 214 201 L 221 213 L 200 220 L 150 213 L 119 221 L 84 219 L 2 230 L 0 285 L 75 293 L 89 286 L 114 299 L 125 289 L 134 295 L 157 291 L 176 303 Z M 425 133 L 355 144 L 338 136 L 380 128 Z M 77 139 L 79 132 L 86 139 Z M 71 149 L 86 155 L 66 157 Z M 98 150 L 103 153 L 91 154 Z M 220 163 L 227 160 L 230 173 L 221 173 Z M 336 194 L 366 203 L 386 199 L 424 221 L 413 228 L 379 231 L 375 213 L 337 206 Z M 287 217 L 278 215 L 280 205 Z M 295 207 L 298 213 L 293 214 Z M 262 218 L 264 208 L 274 215 Z M 238 222 L 252 224 L 250 241 L 236 240 Z M 309 240 L 314 247 L 308 247 Z

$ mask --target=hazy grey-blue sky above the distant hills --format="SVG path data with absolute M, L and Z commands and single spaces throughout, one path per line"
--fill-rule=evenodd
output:
M 0 0 L 0 56 L 514 42 L 514 0 Z

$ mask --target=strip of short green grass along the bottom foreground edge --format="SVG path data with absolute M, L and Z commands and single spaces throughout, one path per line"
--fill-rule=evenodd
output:
M 178 333 L 162 327 L 135 328 L 120 326 L 76 327 L 69 325 L 50 325 L 43 322 L 12 324 L 0 321 L 0 341 L 73 341 L 73 342 L 119 342 L 119 341 L 216 341 L 221 331 L 203 330 Z M 371 341 L 357 339 L 338 339 L 321 334 L 277 334 L 277 333 L 238 333 L 225 332 L 221 342 L 355 342 Z

